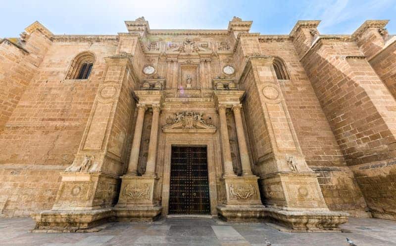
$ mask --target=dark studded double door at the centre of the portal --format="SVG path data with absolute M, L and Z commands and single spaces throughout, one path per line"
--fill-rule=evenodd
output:
M 206 146 L 172 146 L 170 214 L 210 214 Z

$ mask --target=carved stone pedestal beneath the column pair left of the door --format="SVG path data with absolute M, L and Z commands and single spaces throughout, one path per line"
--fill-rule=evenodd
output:
M 158 178 L 154 176 L 121 177 L 118 204 L 114 207 L 117 221 L 153 221 L 162 211 L 155 201 Z

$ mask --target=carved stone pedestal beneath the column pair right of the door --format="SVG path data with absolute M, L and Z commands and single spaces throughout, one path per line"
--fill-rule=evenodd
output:
M 265 207 L 261 204 L 257 179 L 254 175 L 222 178 L 226 200 L 217 207 L 220 218 L 244 222 L 264 219 Z

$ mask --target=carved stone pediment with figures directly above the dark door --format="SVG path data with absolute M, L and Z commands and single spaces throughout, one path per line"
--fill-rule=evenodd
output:
M 202 113 L 180 112 L 166 118 L 165 124 L 162 126 L 164 132 L 177 129 L 197 129 L 215 131 L 216 126 L 213 125 L 213 119 L 210 116 L 203 117 Z

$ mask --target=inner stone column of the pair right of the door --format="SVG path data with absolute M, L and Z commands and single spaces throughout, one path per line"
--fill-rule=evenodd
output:
M 228 137 L 228 129 L 227 129 L 226 108 L 227 107 L 225 105 L 218 106 L 219 116 L 220 116 L 221 145 L 222 145 L 223 162 L 224 162 L 223 175 L 236 176 L 232 166 L 230 139 Z

